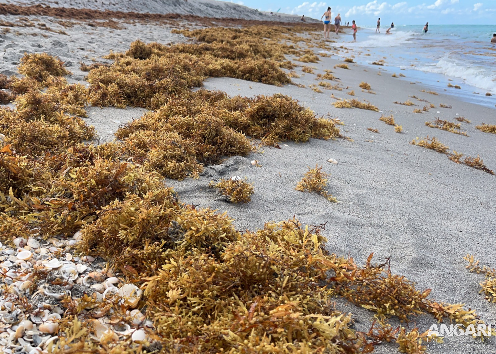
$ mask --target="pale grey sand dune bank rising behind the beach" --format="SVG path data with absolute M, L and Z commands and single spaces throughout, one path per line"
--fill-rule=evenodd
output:
M 75 1 L 5 1 L 17 5 L 49 5 L 51 7 L 73 7 L 73 8 L 90 8 L 97 10 L 111 10 L 124 12 L 140 13 L 179 13 L 188 15 L 197 15 L 204 17 L 218 18 L 242 18 L 246 20 L 265 20 L 265 21 L 299 21 L 299 15 L 287 15 L 278 13 L 271 15 L 267 12 L 260 12 L 248 6 L 240 5 L 233 2 L 218 0 L 75 0 Z M 311 21 L 311 19 L 307 19 Z M 315 20 L 314 20 L 315 21 Z

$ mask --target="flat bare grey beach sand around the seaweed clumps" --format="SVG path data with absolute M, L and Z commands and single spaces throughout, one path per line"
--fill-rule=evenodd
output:
M 8 15 L 5 20 L 13 21 L 15 17 Z M 171 33 L 172 26 L 153 23 L 123 23 L 123 29 L 82 25 L 63 28 L 53 18 L 37 16 L 30 20 L 46 22 L 49 27 L 63 30 L 67 35 L 33 28 L 13 28 L 12 32 L 19 33 L 1 35 L 3 65 L 0 72 L 14 73 L 24 52 L 48 52 L 67 61 L 68 69 L 73 72 L 70 82 L 85 83 L 85 73 L 78 69 L 79 61 L 90 64 L 95 58 L 105 62 L 102 55 L 110 50 L 124 51 L 138 38 L 145 42 L 186 42 L 182 35 Z M 33 30 L 39 35 L 28 34 Z M 48 37 L 43 38 L 42 33 Z M 352 38 L 349 33 L 339 36 Z M 317 48 L 313 49 L 318 53 Z M 302 67 L 295 69 L 300 77 L 292 80 L 306 87 L 276 87 L 232 78 L 209 78 L 203 83 L 203 88 L 224 91 L 229 96 L 276 93 L 291 96 L 317 116 L 339 118 L 344 123 L 339 128 L 349 139 L 310 139 L 300 144 L 283 142 L 279 149 L 261 146 L 257 153 L 232 157 L 220 165 L 206 168 L 199 179 L 168 179 L 167 185 L 174 187 L 185 203 L 197 208 L 209 207 L 220 213 L 227 211 L 239 230 L 256 230 L 265 222 L 287 220 L 293 216 L 305 225 L 325 224 L 322 234 L 328 239 L 329 251 L 351 256 L 359 264 L 364 263 L 372 252 L 378 263 L 389 258 L 393 273 L 416 282 L 419 290 L 432 289 L 430 297 L 438 301 L 465 303 L 467 308 L 476 309 L 486 323 L 496 323 L 495 305 L 478 294 L 479 282 L 484 277 L 469 273 L 463 260 L 466 254 L 474 254 L 483 264 L 494 267 L 496 177 L 455 164 L 443 154 L 409 143 L 415 137 L 435 136 L 450 150 L 482 156 L 484 163 L 496 170 L 496 136 L 475 129 L 475 125 L 482 122 L 496 124 L 495 109 L 460 102 L 442 92 L 439 95 L 421 92 L 429 91 L 429 88 L 421 82 L 412 84 L 408 77 L 392 77 L 393 73 L 398 75 L 400 72 L 390 71 L 386 66 L 348 63 L 349 69 L 334 68 L 353 53 L 344 48 L 332 52 L 331 58 L 321 57 L 318 63 L 294 61 L 314 67 L 315 74 L 302 72 Z M 322 93 L 318 93 L 309 87 L 318 84 L 320 80 L 316 80 L 316 74 L 324 74 L 325 69 L 332 70 L 339 78 L 331 83 L 341 86 L 342 91 L 319 87 Z M 363 92 L 358 86 L 362 81 L 368 82 L 375 94 Z M 355 92 L 354 97 L 347 94 L 351 90 Z M 331 94 L 341 99 L 370 101 L 380 111 L 335 108 L 332 103 L 336 99 L 331 98 Z M 435 108 L 422 114 L 413 113 L 414 109 L 422 110 L 429 103 L 410 96 L 427 100 Z M 416 106 L 393 103 L 407 100 Z M 451 108 L 439 108 L 440 104 Z M 112 132 L 120 124 L 139 118 L 143 113 L 143 109 L 130 107 L 124 110 L 89 108 L 86 121 L 97 128 L 99 142 L 104 142 L 112 139 Z M 397 133 L 393 126 L 379 121 L 382 114 L 394 115 L 403 132 Z M 462 130 L 468 136 L 425 125 L 426 121 L 435 118 L 453 120 L 456 115 L 471 120 L 471 123 L 462 123 Z M 380 133 L 373 133 L 367 130 L 368 127 L 376 128 Z M 336 159 L 338 164 L 327 162 L 330 158 Z M 260 166 L 253 166 L 251 160 L 257 160 Z M 295 190 L 308 167 L 316 165 L 331 174 L 328 191 L 339 203 Z M 255 193 L 250 203 L 233 205 L 217 200 L 218 195 L 208 187 L 211 180 L 233 176 L 247 177 L 254 183 Z M 342 299 L 337 301 L 338 309 L 356 315 L 357 329 L 367 331 L 370 328 L 371 312 Z M 410 324 L 410 328 L 419 326 L 423 332 L 434 323 L 432 317 L 421 316 L 416 325 Z M 395 350 L 396 345 L 385 344 L 377 347 L 376 353 Z M 496 353 L 496 347 L 475 350 L 474 353 Z M 428 352 L 453 353 L 449 349 Z

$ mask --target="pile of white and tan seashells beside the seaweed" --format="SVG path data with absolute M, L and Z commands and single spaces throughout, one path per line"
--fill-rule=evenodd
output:
M 142 291 L 106 271 L 105 262 L 74 256 L 79 239 L 77 232 L 63 240 L 17 237 L 15 248 L 0 243 L 0 353 L 48 354 L 69 297 L 87 304 L 78 315 L 91 318 L 93 339 L 147 340 L 152 322 L 136 308 Z M 125 316 L 114 313 L 116 305 L 128 309 Z

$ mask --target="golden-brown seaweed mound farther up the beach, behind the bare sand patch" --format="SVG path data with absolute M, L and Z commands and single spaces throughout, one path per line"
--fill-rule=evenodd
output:
M 246 29 L 205 28 L 177 31 L 199 44 L 133 42 L 124 54 L 110 54 L 110 66 L 88 74 L 89 101 L 96 106 L 139 106 L 158 109 L 170 99 L 187 95 L 205 77 L 233 77 L 272 85 L 291 83 L 281 68 L 291 69 L 285 54 L 298 54 L 291 39 L 294 30 L 252 26 Z

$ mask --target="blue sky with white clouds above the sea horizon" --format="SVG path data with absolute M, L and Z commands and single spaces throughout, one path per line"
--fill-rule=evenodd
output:
M 396 25 L 425 24 L 495 24 L 496 0 L 233 0 L 260 11 L 305 15 L 320 19 L 332 8 L 332 17 L 341 14 L 343 22 L 355 20 L 362 26 L 381 22 Z

